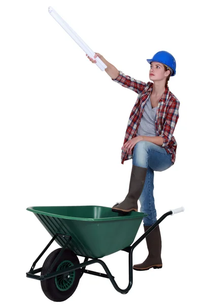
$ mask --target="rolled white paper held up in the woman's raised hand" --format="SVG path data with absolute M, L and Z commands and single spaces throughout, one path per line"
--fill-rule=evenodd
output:
M 80 36 L 73 30 L 73 28 L 67 24 L 58 13 L 52 8 L 48 8 L 50 15 L 60 24 L 60 26 L 65 30 L 67 34 L 73 38 L 73 40 L 81 47 L 81 49 L 89 56 L 94 58 L 95 53 L 88 47 L 88 45 L 80 38 Z M 107 66 L 103 63 L 103 61 L 97 56 L 94 58 L 96 60 L 97 67 L 104 71 Z

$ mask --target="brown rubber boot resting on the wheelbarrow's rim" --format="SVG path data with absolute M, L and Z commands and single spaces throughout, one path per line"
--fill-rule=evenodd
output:
M 112 207 L 113 212 L 128 213 L 132 210 L 138 211 L 138 199 L 142 194 L 146 174 L 147 168 L 132 165 L 128 194 L 122 202 L 116 203 Z

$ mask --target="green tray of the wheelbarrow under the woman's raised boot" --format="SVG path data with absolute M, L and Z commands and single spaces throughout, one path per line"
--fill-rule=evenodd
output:
M 53 237 L 55 233 L 70 235 L 67 248 L 76 255 L 101 258 L 131 245 L 146 214 L 132 211 L 121 215 L 111 208 L 96 205 L 32 206 L 33 212 Z M 60 247 L 62 236 L 56 237 Z

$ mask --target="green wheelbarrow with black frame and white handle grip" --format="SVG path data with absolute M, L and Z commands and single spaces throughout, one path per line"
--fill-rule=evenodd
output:
M 52 239 L 33 262 L 26 277 L 41 282 L 44 294 L 52 301 L 64 301 L 76 290 L 83 273 L 107 278 L 114 288 L 126 294 L 132 287 L 132 252 L 136 246 L 168 215 L 184 211 L 184 207 L 166 212 L 136 242 L 132 244 L 147 214 L 112 212 L 104 206 L 33 206 L 28 207 L 52 236 Z M 119 234 L 118 234 L 119 232 Z M 60 246 L 51 252 L 41 268 L 35 269 L 53 241 Z M 131 245 L 132 244 L 132 245 Z M 131 245 L 131 246 L 130 246 Z M 125 251 L 129 254 L 129 284 L 120 289 L 109 268 L 100 258 Z M 80 263 L 78 256 L 84 258 Z M 87 270 L 86 266 L 99 263 L 106 273 Z M 37 275 L 37 273 L 40 273 Z

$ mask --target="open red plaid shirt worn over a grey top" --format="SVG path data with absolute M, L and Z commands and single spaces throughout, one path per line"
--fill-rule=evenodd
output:
M 136 104 L 134 104 L 128 120 L 125 139 L 123 142 L 124 144 L 128 140 L 136 137 L 136 133 L 144 112 L 144 107 L 147 103 L 147 98 L 152 93 L 153 83 L 145 83 L 140 80 L 136 80 L 130 76 L 125 75 L 121 71 L 119 71 L 118 77 L 116 79 L 112 78 L 112 80 L 119 83 L 123 87 L 133 90 L 138 94 Z M 157 136 L 163 138 L 162 147 L 164 147 L 168 154 L 171 154 L 173 163 L 175 163 L 176 160 L 177 148 L 177 142 L 173 136 L 173 133 L 179 118 L 179 106 L 179 100 L 173 95 L 173 93 L 171 93 L 167 86 L 157 106 L 155 127 Z M 121 164 L 129 159 L 132 159 L 132 151 L 131 153 L 127 154 L 122 150 Z

